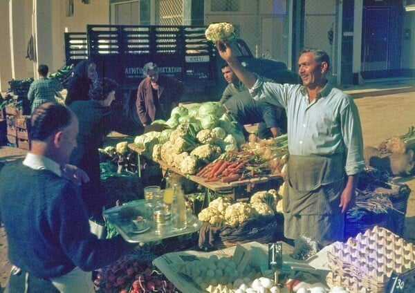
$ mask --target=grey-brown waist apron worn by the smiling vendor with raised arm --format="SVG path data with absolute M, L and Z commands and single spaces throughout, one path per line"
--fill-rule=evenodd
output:
M 319 216 L 333 216 L 333 219 L 343 216 L 339 205 L 344 175 L 341 154 L 290 155 L 283 198 L 284 234 L 287 238 L 311 237 L 319 235 L 320 229 L 325 230 L 326 227 L 321 227 L 326 225 L 324 222 L 308 223 L 313 216 L 316 219 Z M 297 226 L 297 220 L 302 216 L 305 216 L 306 223 L 301 223 L 303 235 L 298 235 L 299 230 L 293 225 Z M 339 225 L 344 227 L 342 218 L 343 222 Z M 338 234 L 338 229 L 335 230 L 335 234 Z M 327 237 L 331 238 L 330 235 Z

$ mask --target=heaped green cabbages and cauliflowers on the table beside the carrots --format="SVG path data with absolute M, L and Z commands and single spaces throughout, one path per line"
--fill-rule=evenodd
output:
M 159 133 L 145 133 L 135 139 L 138 149 L 151 153 L 182 173 L 193 175 L 226 151 L 238 151 L 246 142 L 236 122 L 219 102 L 204 102 L 189 107 L 176 106 Z

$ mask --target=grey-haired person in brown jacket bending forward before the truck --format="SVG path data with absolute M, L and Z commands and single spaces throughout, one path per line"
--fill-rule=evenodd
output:
M 146 127 L 154 120 L 168 120 L 185 88 L 178 80 L 160 75 L 153 62 L 145 64 L 142 73 L 145 78 L 138 85 L 136 103 L 138 117 Z

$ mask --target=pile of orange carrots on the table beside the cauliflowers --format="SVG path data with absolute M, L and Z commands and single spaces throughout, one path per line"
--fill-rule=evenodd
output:
M 205 182 L 233 182 L 270 173 L 269 165 L 251 151 L 226 153 L 203 167 L 196 176 Z

